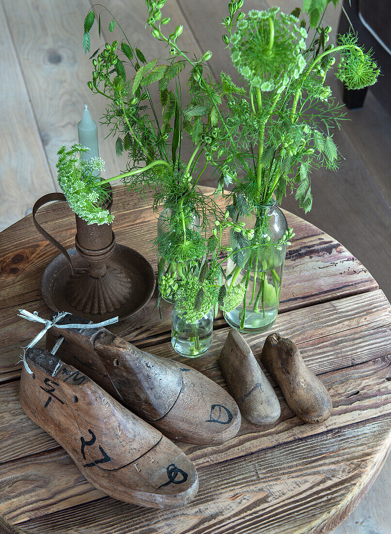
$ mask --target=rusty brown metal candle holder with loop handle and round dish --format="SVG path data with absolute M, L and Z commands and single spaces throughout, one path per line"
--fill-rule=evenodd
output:
M 105 209 L 113 203 L 110 200 Z M 66 201 L 62 193 L 41 197 L 33 208 L 36 229 L 62 254 L 47 265 L 41 280 L 49 307 L 93 319 L 129 318 L 150 300 L 155 289 L 152 266 L 135 250 L 116 244 L 111 224 L 87 224 L 76 215 L 75 247 L 65 250 L 36 221 L 37 210 L 53 200 Z M 95 319 L 96 320 L 96 319 Z

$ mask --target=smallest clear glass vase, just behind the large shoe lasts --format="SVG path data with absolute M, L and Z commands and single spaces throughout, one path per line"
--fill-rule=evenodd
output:
M 187 323 L 180 311 L 172 307 L 171 344 L 187 358 L 197 358 L 207 352 L 213 337 L 213 309 L 195 323 Z

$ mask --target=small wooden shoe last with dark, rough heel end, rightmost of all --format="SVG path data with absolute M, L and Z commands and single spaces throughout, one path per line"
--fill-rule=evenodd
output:
M 306 423 L 329 419 L 331 398 L 323 383 L 308 369 L 292 340 L 277 333 L 268 335 L 261 362 L 280 386 L 297 417 Z

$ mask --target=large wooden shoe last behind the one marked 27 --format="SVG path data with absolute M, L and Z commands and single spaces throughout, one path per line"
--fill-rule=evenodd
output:
M 68 315 L 63 323 L 88 323 Z M 61 322 L 62 322 L 61 321 Z M 63 336 L 57 352 L 121 404 L 171 438 L 214 445 L 234 437 L 241 426 L 235 400 L 202 373 L 134 347 L 106 328 L 60 329 L 46 334 L 46 348 Z

